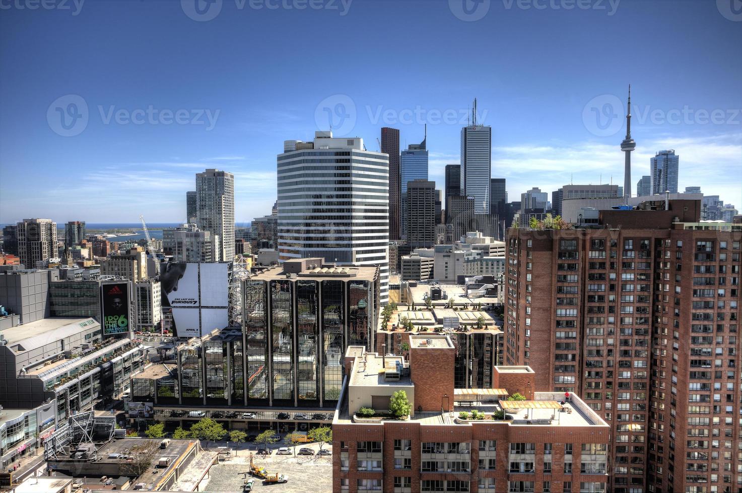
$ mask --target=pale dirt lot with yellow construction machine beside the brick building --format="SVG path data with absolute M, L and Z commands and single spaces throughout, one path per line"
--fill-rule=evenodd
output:
M 298 449 L 297 449 L 298 451 Z M 243 451 L 244 453 L 244 451 Z M 263 485 L 255 478 L 253 492 L 274 493 L 330 493 L 332 492 L 332 457 L 310 457 L 290 455 L 275 455 L 255 457 L 255 463 L 268 469 L 269 473 L 284 474 L 289 477 L 286 484 Z M 206 486 L 200 486 L 200 491 L 211 493 L 239 493 L 242 492 L 243 481 L 250 477 L 246 473 L 250 469 L 250 459 L 240 455 L 212 466 L 209 471 L 209 480 Z

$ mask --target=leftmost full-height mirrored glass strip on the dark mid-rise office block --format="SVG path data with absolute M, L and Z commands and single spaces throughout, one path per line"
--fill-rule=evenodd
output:
M 246 281 L 243 327 L 247 345 L 247 398 L 268 398 L 268 313 L 266 282 Z

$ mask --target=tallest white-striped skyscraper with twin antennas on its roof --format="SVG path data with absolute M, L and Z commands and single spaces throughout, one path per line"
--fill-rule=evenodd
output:
M 477 214 L 490 212 L 490 175 L 492 160 L 492 128 L 476 123 L 474 99 L 471 125 L 462 128 L 461 194 L 474 198 Z

